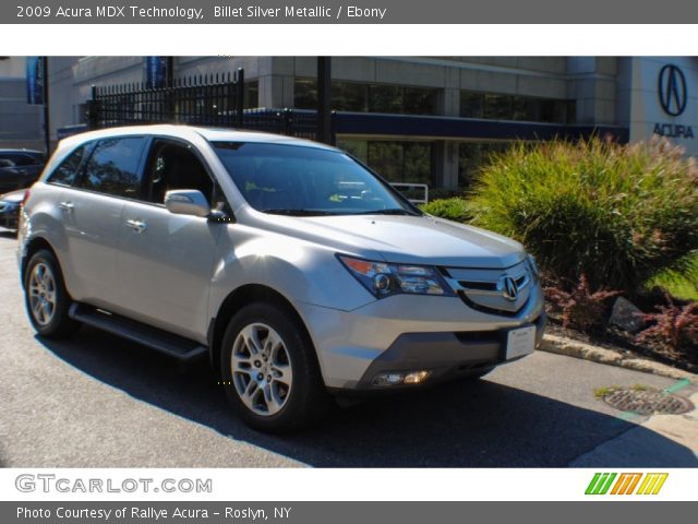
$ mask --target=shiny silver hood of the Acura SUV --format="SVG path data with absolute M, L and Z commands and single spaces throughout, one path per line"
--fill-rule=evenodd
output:
M 267 221 L 278 233 L 332 246 L 338 252 L 351 249 L 365 258 L 378 254 L 387 262 L 506 269 L 526 257 L 515 240 L 432 216 L 265 215 Z

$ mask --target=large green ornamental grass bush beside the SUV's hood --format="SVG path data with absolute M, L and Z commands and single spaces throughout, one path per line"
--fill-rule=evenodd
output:
M 594 289 L 634 294 L 698 249 L 698 168 L 663 139 L 514 146 L 482 169 L 469 207 L 553 276 L 586 274 Z

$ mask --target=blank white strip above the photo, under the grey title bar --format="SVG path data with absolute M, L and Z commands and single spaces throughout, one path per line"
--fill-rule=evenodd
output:
M 697 25 L 2 24 L 0 52 L 95 56 L 698 55 Z

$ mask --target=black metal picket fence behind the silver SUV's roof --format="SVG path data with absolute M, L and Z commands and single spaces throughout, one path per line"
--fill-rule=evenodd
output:
M 176 79 L 171 85 L 93 86 L 89 129 L 144 123 L 186 123 L 249 129 L 316 140 L 315 111 L 244 109 L 244 71 Z M 334 133 L 333 133 L 334 142 Z

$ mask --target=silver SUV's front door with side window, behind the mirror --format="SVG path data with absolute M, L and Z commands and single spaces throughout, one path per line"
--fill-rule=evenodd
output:
M 117 278 L 121 312 L 172 333 L 206 341 L 208 289 L 224 224 L 174 215 L 165 193 L 197 189 L 212 207 L 226 205 L 195 148 L 153 140 L 140 202 L 128 202 L 119 229 Z

